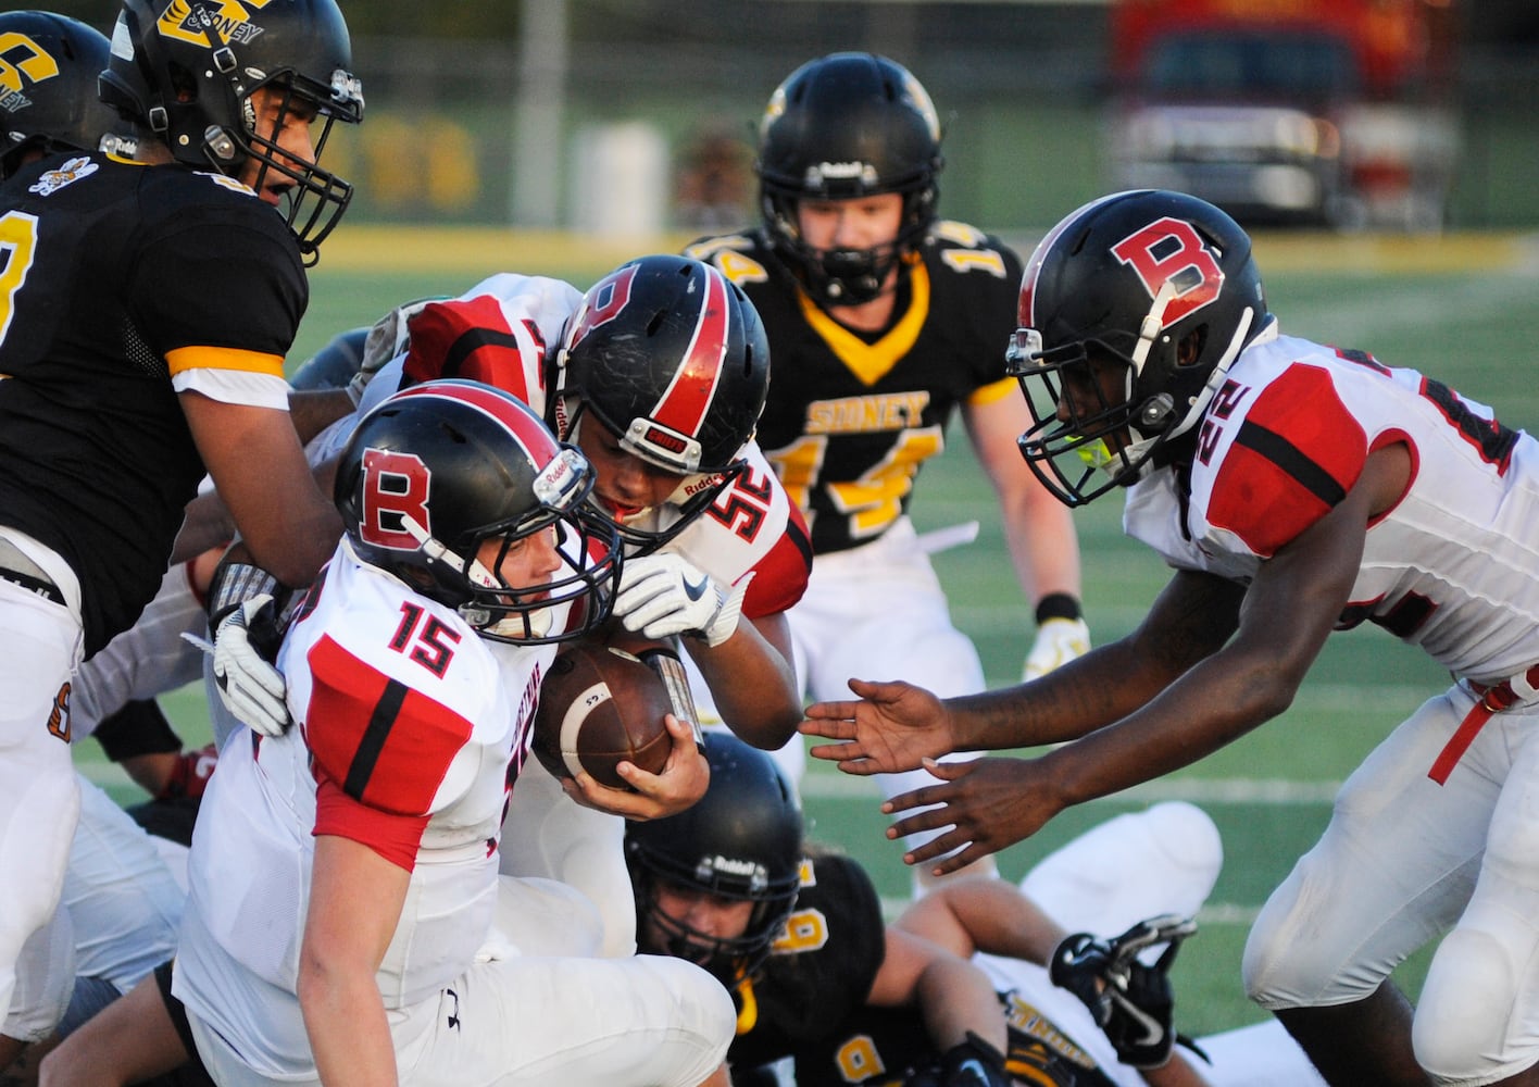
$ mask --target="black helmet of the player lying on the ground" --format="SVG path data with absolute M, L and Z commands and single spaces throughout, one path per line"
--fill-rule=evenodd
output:
M 802 882 L 802 807 L 780 767 L 731 733 L 705 733 L 711 785 L 693 807 L 625 824 L 642 952 L 689 959 L 736 990 L 785 927 Z M 657 881 L 753 902 L 737 938 L 697 931 L 657 908 Z M 649 927 L 666 947 L 645 947 Z

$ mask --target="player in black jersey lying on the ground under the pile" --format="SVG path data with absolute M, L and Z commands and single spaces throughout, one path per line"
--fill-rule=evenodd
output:
M 788 1056 L 799 1087 L 1319 1082 L 1276 1024 L 1203 1038 L 1214 1056 L 1202 1075 L 1171 1053 L 1168 959 L 1127 962 L 1127 992 L 1162 1027 L 1153 1042 L 1122 1030 L 1131 1016 L 1107 1013 L 1097 1025 L 1050 979 L 1059 948 L 1073 948 L 1057 972 L 1067 984 L 1090 967 L 1087 948 L 1131 956 L 1179 944 L 1190 924 L 1177 915 L 1200 907 L 1222 861 L 1213 821 L 1193 805 L 1110 819 L 1043 858 L 1019 888 L 953 881 L 883 927 L 859 864 L 803 842 L 796 796 L 771 759 L 720 733 L 706 751 L 705 798 L 631 824 L 626 858 L 642 950 L 700 962 L 734 995 L 734 1082 L 757 1082 L 751 1070 Z M 1171 924 L 1140 924 L 1162 913 Z M 1128 931 L 1105 941 L 1067 925 Z

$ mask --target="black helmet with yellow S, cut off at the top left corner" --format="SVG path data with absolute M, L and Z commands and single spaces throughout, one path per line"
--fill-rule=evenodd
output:
M 106 35 L 75 18 L 0 12 L 0 180 L 28 151 L 95 151 L 103 135 L 128 135 L 97 97 L 106 60 Z

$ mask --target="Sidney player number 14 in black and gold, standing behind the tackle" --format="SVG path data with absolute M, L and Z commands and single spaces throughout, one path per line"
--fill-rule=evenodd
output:
M 919 471 L 957 414 L 1036 608 L 1027 676 L 1090 639 L 1073 522 L 1016 454 L 1027 416 L 997 345 L 1014 326 L 1020 259 L 997 237 L 937 219 L 940 165 L 940 123 L 913 74 L 863 52 L 820 57 L 765 109 L 763 223 L 686 249 L 748 294 L 770 339 L 776 376 L 759 442 L 813 536 L 791 633 L 814 699 L 871 673 L 948 694 L 983 688 L 977 650 L 951 625 L 908 519 Z M 783 758 L 799 779 L 802 744 Z M 919 781 L 880 784 L 893 794 Z

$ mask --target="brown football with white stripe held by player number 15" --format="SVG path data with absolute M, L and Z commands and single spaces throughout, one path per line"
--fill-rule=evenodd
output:
M 531 748 L 557 778 L 582 768 L 600 785 L 629 788 L 614 767 L 634 762 L 660 771 L 673 750 L 663 725 L 671 710 L 663 681 L 634 653 L 579 642 L 540 682 Z

